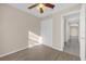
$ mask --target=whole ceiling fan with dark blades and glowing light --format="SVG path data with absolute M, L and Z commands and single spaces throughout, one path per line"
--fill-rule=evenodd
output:
M 40 13 L 44 13 L 44 8 L 45 7 L 50 8 L 50 9 L 53 9 L 54 8 L 54 4 L 51 4 L 51 3 L 35 3 L 35 4 L 30 5 L 30 7 L 28 7 L 28 9 L 33 9 L 35 7 L 38 7 Z

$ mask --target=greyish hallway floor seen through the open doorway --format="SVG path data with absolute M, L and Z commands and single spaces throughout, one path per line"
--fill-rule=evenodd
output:
M 79 42 L 77 37 L 72 37 L 69 42 L 65 42 L 64 44 L 64 52 L 79 56 Z

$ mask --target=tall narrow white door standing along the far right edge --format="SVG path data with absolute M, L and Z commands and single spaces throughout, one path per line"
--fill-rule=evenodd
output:
M 79 18 L 79 43 L 81 43 L 81 60 L 85 61 L 85 4 L 81 8 Z

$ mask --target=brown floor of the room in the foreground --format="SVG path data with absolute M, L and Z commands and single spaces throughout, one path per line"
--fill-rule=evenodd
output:
M 41 44 L 0 57 L 0 61 L 79 61 L 79 57 Z

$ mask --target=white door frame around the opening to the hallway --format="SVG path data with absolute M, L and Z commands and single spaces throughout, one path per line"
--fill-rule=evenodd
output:
M 66 13 L 66 14 L 63 14 L 61 16 L 61 49 L 63 50 L 64 48 L 64 16 L 69 15 L 69 14 L 72 14 L 72 13 L 76 13 L 78 12 L 79 13 L 79 57 L 82 61 L 85 61 L 85 42 L 86 42 L 86 22 L 85 22 L 85 13 L 86 11 L 86 4 L 81 4 L 81 9 L 78 11 L 74 11 L 74 12 L 71 12 L 71 13 Z

